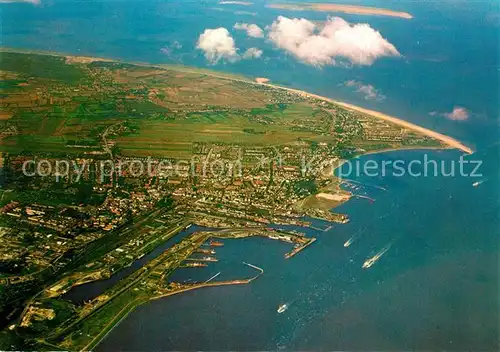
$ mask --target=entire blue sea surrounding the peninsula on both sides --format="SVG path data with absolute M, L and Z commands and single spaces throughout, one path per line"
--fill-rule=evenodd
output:
M 320 1 L 315 1 L 320 2 Z M 333 1 L 331 1 L 333 2 Z M 324 21 L 328 14 L 190 0 L 42 0 L 0 4 L 2 45 L 133 62 L 207 67 L 304 89 L 398 116 L 455 137 L 482 161 L 479 178 L 368 177 L 336 211 L 351 222 L 327 232 L 292 259 L 289 245 L 227 240 L 218 263 L 182 269 L 172 280 L 246 277 L 249 262 L 265 270 L 250 285 L 207 288 L 144 305 L 98 350 L 497 350 L 500 335 L 500 109 L 498 1 L 363 1 L 407 11 L 411 20 L 336 14 L 368 23 L 402 54 L 371 66 L 315 68 L 263 39 L 232 30 L 264 28 L 277 16 Z M 345 1 L 361 4 L 360 1 Z M 225 27 L 241 51 L 259 60 L 210 65 L 195 49 L 206 28 Z M 165 49 L 169 48 L 168 54 Z M 347 80 L 373 85 L 386 98 L 367 100 Z M 469 111 L 466 121 L 442 114 Z M 431 114 L 431 112 L 435 112 Z M 437 113 L 436 113 L 437 112 Z M 414 160 L 424 153 L 457 162 L 458 151 L 398 151 L 361 160 Z M 338 170 L 338 172 L 340 172 Z M 473 187 L 476 181 L 482 183 Z M 318 223 L 318 228 L 327 224 Z M 344 247 L 353 238 L 351 246 Z M 363 262 L 384 247 L 371 268 Z M 277 306 L 289 303 L 277 314 Z

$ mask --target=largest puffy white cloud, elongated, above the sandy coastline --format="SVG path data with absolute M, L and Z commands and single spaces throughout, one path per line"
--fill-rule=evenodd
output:
M 335 65 L 339 58 L 371 65 L 384 56 L 401 56 L 398 50 L 368 24 L 350 24 L 331 17 L 321 26 L 305 18 L 279 16 L 269 26 L 269 39 L 279 48 L 314 65 Z

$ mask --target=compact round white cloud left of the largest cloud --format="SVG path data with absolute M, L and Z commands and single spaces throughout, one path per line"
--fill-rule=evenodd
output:
M 236 49 L 234 39 L 223 27 L 205 29 L 198 39 L 196 48 L 202 50 L 212 64 L 216 64 L 219 60 L 235 61 L 238 59 L 238 49 Z

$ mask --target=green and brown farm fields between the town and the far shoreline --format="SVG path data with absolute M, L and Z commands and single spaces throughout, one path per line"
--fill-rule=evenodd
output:
M 208 70 L 3 51 L 0 151 L 85 154 L 103 131 L 126 156 L 191 155 L 195 142 L 289 145 L 301 141 L 362 147 L 439 145 L 422 136 L 364 138 L 362 114 Z M 125 126 L 128 124 L 129 127 Z M 133 125 L 133 128 L 130 128 Z M 377 120 L 370 130 L 402 131 Z

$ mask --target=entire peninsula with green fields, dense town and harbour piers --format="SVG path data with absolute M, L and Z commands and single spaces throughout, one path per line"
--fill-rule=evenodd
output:
M 3 54 L 0 311 L 3 338 L 25 350 L 91 350 L 149 300 L 249 284 L 258 263 L 235 280 L 171 277 L 247 237 L 293 260 L 316 241 L 307 229 L 350 220 L 334 210 L 357 196 L 335 174 L 346 160 L 444 147 L 252 80 Z

